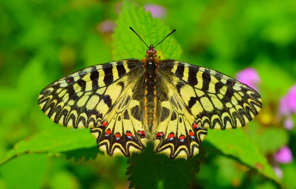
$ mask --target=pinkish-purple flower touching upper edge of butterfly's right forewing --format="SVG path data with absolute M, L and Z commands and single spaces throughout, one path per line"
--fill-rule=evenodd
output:
M 260 83 L 261 80 L 258 72 L 255 69 L 243 69 L 235 75 L 235 78 L 239 82 L 244 83 L 249 87 L 253 88 L 254 90 L 258 91 L 257 85 Z

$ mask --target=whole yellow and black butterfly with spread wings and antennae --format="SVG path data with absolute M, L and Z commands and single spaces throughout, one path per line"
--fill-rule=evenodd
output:
M 53 82 L 41 91 L 40 108 L 58 124 L 89 128 L 108 155 L 129 157 L 149 141 L 172 159 L 198 154 L 208 129 L 243 127 L 261 110 L 249 86 L 209 68 L 160 60 L 157 45 L 146 44 L 143 60 L 94 65 Z

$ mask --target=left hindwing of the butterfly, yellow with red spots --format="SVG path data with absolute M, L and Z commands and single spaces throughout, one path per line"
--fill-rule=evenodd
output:
M 106 117 L 106 123 L 91 129 L 99 148 L 109 155 L 130 156 L 146 145 L 144 128 L 143 75 L 125 89 L 115 108 Z

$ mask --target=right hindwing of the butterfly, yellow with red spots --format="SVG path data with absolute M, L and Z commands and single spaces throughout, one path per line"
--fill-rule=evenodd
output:
M 186 109 L 176 88 L 159 73 L 157 121 L 154 147 L 170 158 L 187 158 L 199 152 L 207 129 L 197 126 L 194 116 Z M 161 92 L 160 92 L 161 91 Z

